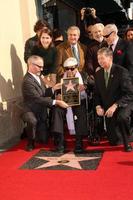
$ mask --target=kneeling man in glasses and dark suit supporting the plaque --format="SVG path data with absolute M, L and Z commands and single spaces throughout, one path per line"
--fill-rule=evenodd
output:
M 46 142 L 47 134 L 47 108 L 55 105 L 67 108 L 68 105 L 61 100 L 53 100 L 53 92 L 59 89 L 59 84 L 53 88 L 46 88 L 40 79 L 43 70 L 43 59 L 39 56 L 28 58 L 28 72 L 24 76 L 22 83 L 23 95 L 23 115 L 24 122 L 27 123 L 28 144 L 27 151 L 35 147 L 35 138 L 41 135 L 42 142 Z

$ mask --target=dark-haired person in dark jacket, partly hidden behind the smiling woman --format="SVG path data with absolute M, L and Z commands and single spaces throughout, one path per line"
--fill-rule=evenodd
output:
M 25 48 L 24 48 L 24 60 L 27 63 L 28 58 L 31 56 L 31 52 L 33 47 L 37 44 L 38 42 L 38 37 L 40 34 L 40 31 L 44 28 L 44 27 L 48 27 L 50 28 L 48 22 L 46 22 L 45 20 L 41 20 L 39 19 L 35 25 L 34 25 L 34 32 L 36 33 L 35 36 L 29 38 L 26 42 L 25 42 Z

